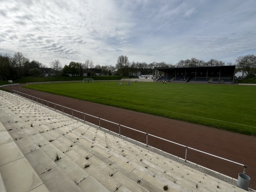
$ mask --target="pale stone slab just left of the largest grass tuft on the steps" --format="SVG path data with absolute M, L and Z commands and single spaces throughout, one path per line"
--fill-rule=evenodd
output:
M 57 165 L 48 157 L 47 154 L 40 148 L 30 153 L 24 154 L 30 165 L 35 169 L 38 175 L 46 172 L 49 169 L 56 167 Z

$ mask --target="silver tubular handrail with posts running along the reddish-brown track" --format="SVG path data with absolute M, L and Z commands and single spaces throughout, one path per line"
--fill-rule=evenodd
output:
M 32 100 L 33 100 L 33 101 L 34 101 L 34 98 L 35 98 L 35 99 L 36 99 L 36 102 L 38 102 L 38 99 L 40 99 L 40 98 L 38 98 L 38 97 L 31 96 L 31 95 L 28 95 L 28 94 L 26 94 L 26 93 L 21 93 L 21 92 L 16 91 L 16 90 L 12 90 L 12 93 L 15 93 L 15 94 L 17 94 L 17 95 L 19 95 L 19 96 L 23 96 L 23 94 L 24 94 L 26 99 L 30 99 L 30 97 L 32 97 Z M 19 93 L 19 94 L 18 94 L 18 93 Z M 22 95 L 20 95 L 20 94 L 22 94 Z M 26 96 L 28 96 L 28 98 L 27 98 Z M 24 96 L 23 96 L 23 97 L 24 97 Z M 30 99 L 30 100 L 31 100 L 31 99 Z M 64 107 L 64 106 L 62 106 L 62 105 L 58 105 L 58 104 L 55 104 L 55 103 L 53 103 L 53 102 L 46 101 L 46 100 L 44 100 L 44 99 L 40 99 L 40 100 L 41 100 L 41 105 L 43 105 L 43 101 L 44 101 L 44 102 L 47 102 L 47 107 L 48 107 L 48 108 L 49 108 L 49 103 L 54 104 L 54 110 L 56 110 L 56 105 L 57 105 L 57 106 L 60 106 L 60 107 L 62 108 L 62 111 L 60 111 L 60 112 L 62 112 L 62 113 L 64 113 L 63 109 L 66 108 L 66 109 L 70 109 L 70 110 L 71 110 L 72 116 L 73 116 L 73 111 L 76 111 L 76 112 L 82 113 L 83 115 L 88 115 L 88 116 L 97 118 L 97 119 L 99 119 L 99 128 L 100 128 L 100 120 L 103 120 L 103 121 L 106 121 L 106 122 L 110 122 L 110 123 L 113 123 L 113 124 L 115 124 L 115 125 L 119 125 L 119 135 L 121 135 L 121 128 L 120 128 L 121 126 L 124 127 L 124 128 L 128 128 L 128 129 L 131 129 L 131 130 L 134 130 L 134 131 L 143 133 L 143 134 L 146 135 L 146 143 L 145 143 L 146 146 L 148 146 L 148 135 L 149 135 L 149 136 L 158 138 L 158 139 L 160 139 L 160 140 L 164 140 L 164 141 L 167 141 L 167 142 L 169 142 L 169 143 L 173 143 L 173 144 L 176 144 L 176 145 L 185 147 L 185 148 L 186 148 L 185 159 L 184 159 L 185 162 L 187 161 L 187 151 L 188 151 L 188 149 L 192 149 L 192 150 L 194 150 L 194 151 L 198 151 L 198 152 L 201 152 L 201 153 L 203 153 L 203 154 L 207 154 L 207 155 L 210 155 L 210 156 L 212 156 L 212 157 L 219 158 L 219 159 L 221 159 L 221 160 L 226 160 L 226 161 L 228 161 L 228 162 L 235 163 L 235 164 L 240 165 L 240 166 L 244 166 L 244 171 L 243 171 L 243 173 L 244 173 L 244 174 L 246 173 L 246 168 L 247 168 L 247 166 L 244 165 L 244 164 L 237 163 L 237 162 L 235 162 L 235 161 L 228 160 L 228 159 L 225 159 L 225 158 L 223 158 L 223 157 L 218 157 L 218 156 L 216 156 L 216 155 L 213 155 L 213 154 L 210 154 L 210 153 L 207 153 L 207 152 L 204 152 L 204 151 L 200 151 L 200 150 L 198 150 L 198 149 L 191 148 L 191 147 L 188 147 L 188 146 L 186 146 L 186 145 L 181 145 L 181 144 L 179 144 L 179 143 L 175 143 L 175 142 L 173 142 L 173 141 L 166 140 L 166 139 L 163 139 L 163 138 L 161 138 L 161 137 L 157 137 L 157 136 L 155 136 L 155 135 L 148 134 L 148 133 L 145 133 L 145 132 L 143 132 L 143 131 L 136 130 L 136 129 L 134 129 L 134 128 L 130 128 L 130 127 L 127 127 L 127 126 L 125 126 L 125 125 L 120 125 L 120 124 L 118 124 L 118 123 L 116 123 L 116 122 L 111 122 L 111 121 L 109 121 L 109 120 L 107 120 L 107 119 L 102 119 L 102 118 L 99 118 L 99 117 L 97 117 L 97 116 L 93 116 L 93 115 L 90 115 L 90 114 L 87 114 L 87 113 L 84 113 L 84 112 L 81 112 L 81 111 L 77 111 L 77 110 L 75 110 L 75 109 L 67 108 L 67 107 Z M 38 103 L 39 103 L 39 102 L 38 102 Z M 59 111 L 59 110 L 57 110 L 57 111 Z M 65 114 L 68 114 L 68 113 L 65 113 Z M 70 115 L 70 114 L 68 114 L 68 115 Z M 78 117 L 76 117 L 76 118 L 78 118 Z M 80 118 L 78 118 L 78 119 L 80 119 Z M 85 122 L 85 116 L 84 116 L 84 119 L 81 119 L 81 120 L 84 120 L 84 122 Z M 110 130 L 108 130 L 108 131 L 110 131 Z M 112 132 L 112 131 L 111 131 L 111 132 Z M 131 138 L 130 138 L 130 139 L 131 139 Z

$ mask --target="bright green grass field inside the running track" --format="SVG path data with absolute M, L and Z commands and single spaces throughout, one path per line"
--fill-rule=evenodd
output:
M 117 81 L 94 81 L 27 88 L 256 135 L 256 86 L 134 81 L 119 86 Z

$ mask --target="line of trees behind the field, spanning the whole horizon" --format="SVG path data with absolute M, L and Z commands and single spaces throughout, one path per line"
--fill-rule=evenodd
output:
M 223 61 L 211 59 L 209 61 L 191 58 L 180 60 L 177 64 L 170 64 L 166 62 L 135 62 L 129 61 L 128 57 L 121 55 L 117 58 L 115 65 L 94 64 L 92 60 L 85 60 L 84 63 L 71 61 L 70 64 L 62 66 L 59 60 L 54 60 L 49 63 L 52 69 L 52 74 L 55 76 L 94 76 L 95 70 L 101 70 L 101 75 L 121 75 L 121 76 L 140 76 L 143 74 L 157 74 L 161 76 L 162 72 L 156 70 L 157 68 L 172 68 L 172 67 L 207 67 L 207 66 L 224 66 L 236 65 L 244 75 L 255 76 L 256 73 L 256 55 L 240 56 L 236 59 L 236 63 L 225 63 Z M 0 78 L 2 80 L 17 79 L 24 76 L 40 76 L 40 68 L 48 67 L 39 61 L 29 61 L 22 53 L 15 52 L 13 56 L 8 54 L 0 54 Z M 5 79 L 4 79 L 5 78 Z

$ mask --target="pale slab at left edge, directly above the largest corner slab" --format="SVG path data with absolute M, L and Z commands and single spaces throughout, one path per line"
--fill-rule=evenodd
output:
M 1 144 L 0 154 L 0 166 L 24 157 L 14 141 Z

